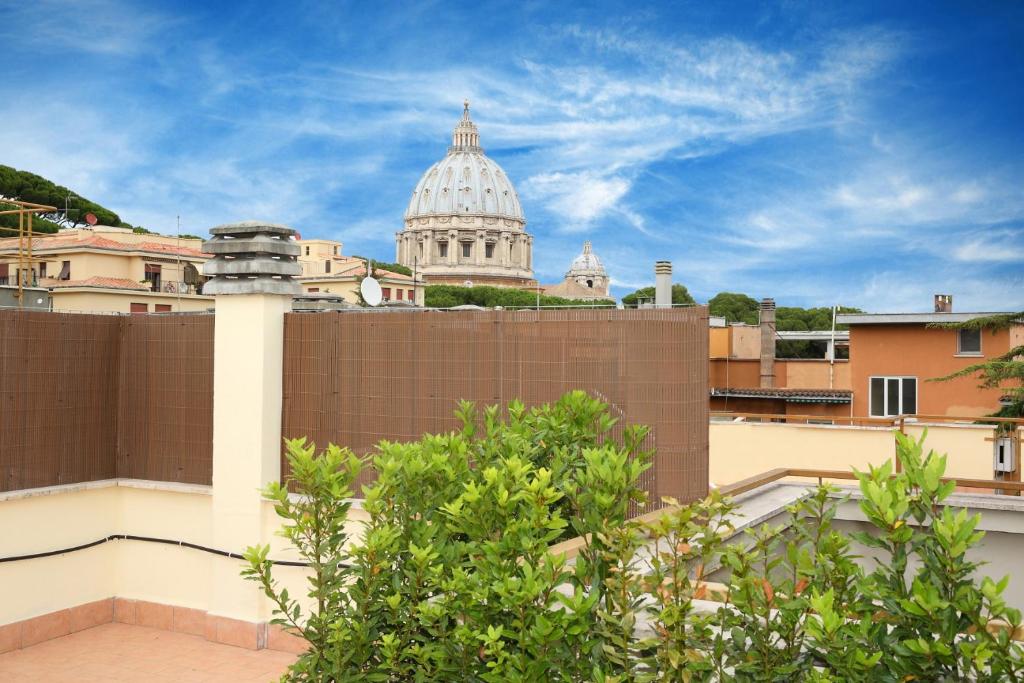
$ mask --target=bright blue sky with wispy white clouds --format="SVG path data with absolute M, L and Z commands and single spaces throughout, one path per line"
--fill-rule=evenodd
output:
M 0 163 L 394 257 L 462 100 L 542 282 L 1024 307 L 1024 4 L 0 0 Z

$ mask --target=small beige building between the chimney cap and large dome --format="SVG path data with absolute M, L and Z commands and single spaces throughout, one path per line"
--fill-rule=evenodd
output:
M 303 294 L 334 294 L 351 304 L 358 304 L 359 283 L 367 275 L 367 262 L 361 258 L 343 256 L 342 243 L 334 240 L 298 240 L 302 275 L 296 280 Z M 406 301 L 423 305 L 422 283 L 400 272 L 373 269 L 380 283 L 385 302 Z

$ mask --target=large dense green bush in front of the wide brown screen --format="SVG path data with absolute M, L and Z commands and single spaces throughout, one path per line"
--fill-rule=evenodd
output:
M 370 519 L 347 546 L 342 501 L 358 463 L 289 442 L 305 502 L 279 484 L 265 495 L 311 562 L 312 613 L 275 584 L 267 547 L 247 551 L 245 574 L 273 600 L 275 623 L 310 642 L 292 680 L 588 680 L 600 668 L 603 546 L 574 567 L 549 547 L 623 527 L 643 499 L 645 430 L 616 441 L 606 407 L 579 391 L 507 413 L 464 403 L 455 432 L 382 442 L 364 492 Z

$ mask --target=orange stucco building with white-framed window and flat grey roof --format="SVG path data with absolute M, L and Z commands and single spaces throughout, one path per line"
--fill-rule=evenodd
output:
M 970 331 L 930 327 L 992 313 L 840 315 L 850 326 L 850 381 L 858 416 L 975 417 L 999 409 L 1004 391 L 981 389 L 976 376 L 933 382 L 1024 343 L 1024 325 Z

